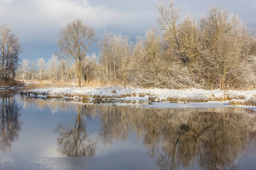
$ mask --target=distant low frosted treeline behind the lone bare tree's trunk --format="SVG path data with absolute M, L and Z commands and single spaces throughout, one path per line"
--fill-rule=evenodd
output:
M 93 53 L 92 56 L 87 56 L 82 61 L 84 80 L 89 81 L 96 79 L 96 77 L 92 78 L 92 75 L 96 74 L 89 68 L 93 67 L 93 69 L 97 69 L 96 67 L 99 66 L 99 63 L 96 59 Z M 88 78 L 86 78 L 86 75 L 88 75 Z M 75 63 L 73 63 L 71 59 L 61 58 L 53 54 L 48 61 L 45 61 L 44 58 L 38 58 L 36 62 L 23 59 L 18 67 L 16 79 L 76 82 L 78 79 L 78 71 Z

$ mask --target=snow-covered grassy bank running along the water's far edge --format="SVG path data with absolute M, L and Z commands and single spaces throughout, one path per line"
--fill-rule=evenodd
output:
M 232 101 L 232 105 L 256 104 L 256 90 L 202 90 L 202 89 L 141 89 L 121 87 L 64 87 L 37 88 L 22 91 L 22 95 L 48 98 L 75 97 L 81 99 L 127 99 L 152 102 L 204 103 L 207 101 Z M 250 101 L 250 102 L 246 102 Z

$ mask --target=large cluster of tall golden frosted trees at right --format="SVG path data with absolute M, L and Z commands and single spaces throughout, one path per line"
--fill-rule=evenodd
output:
M 184 63 L 192 84 L 221 89 L 255 86 L 254 36 L 236 15 L 213 7 L 199 22 L 191 14 L 180 21 L 180 10 L 172 1 L 156 7 L 167 42 L 164 48 Z

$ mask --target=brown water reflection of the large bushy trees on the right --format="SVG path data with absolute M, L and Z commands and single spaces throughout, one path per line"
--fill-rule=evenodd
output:
M 188 121 L 164 131 L 163 169 L 188 167 L 195 159 L 201 168 L 216 169 L 233 165 L 250 145 L 251 131 L 245 115 L 225 113 L 188 114 Z M 255 118 L 254 118 L 255 121 Z

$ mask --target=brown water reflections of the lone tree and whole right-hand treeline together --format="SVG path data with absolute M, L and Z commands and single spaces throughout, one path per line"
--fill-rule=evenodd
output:
M 44 102 L 49 104 L 49 101 Z M 255 148 L 256 116 L 247 114 L 251 111 L 246 109 L 80 107 L 79 115 L 81 112 L 81 116 L 100 119 L 99 139 L 105 145 L 113 139 L 125 141 L 129 133 L 135 131 L 137 138 L 142 138 L 148 155 L 157 157 L 159 169 L 189 168 L 196 163 L 203 169 L 236 168 L 237 159 Z M 59 151 L 64 155 L 92 155 L 89 153 L 95 152 L 96 143 L 89 140 L 85 122 L 79 115 L 72 126 L 57 128 Z

